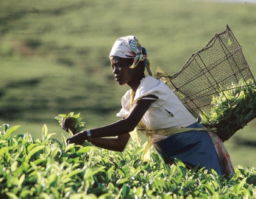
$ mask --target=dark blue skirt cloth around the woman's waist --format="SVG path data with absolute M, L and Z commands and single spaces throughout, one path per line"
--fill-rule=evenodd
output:
M 188 128 L 202 128 L 202 125 L 193 123 Z M 190 167 L 199 165 L 199 168 L 213 169 L 218 175 L 224 175 L 213 141 L 207 131 L 174 134 L 164 140 L 154 142 L 154 147 L 166 163 L 173 162 L 176 158 Z

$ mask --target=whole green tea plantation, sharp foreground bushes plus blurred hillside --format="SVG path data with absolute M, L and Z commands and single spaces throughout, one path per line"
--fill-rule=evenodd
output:
M 186 170 L 178 160 L 170 167 L 153 150 L 143 163 L 143 142 L 123 153 L 67 146 L 54 120 L 81 112 L 88 129 L 118 120 L 129 87 L 116 84 L 108 55 L 125 35 L 148 49 L 153 70 L 172 75 L 228 24 L 256 76 L 255 9 L 192 0 L 0 0 L 0 126 L 10 125 L 0 130 L 0 198 L 255 198 L 256 120 L 224 142 L 235 166 L 230 178 Z

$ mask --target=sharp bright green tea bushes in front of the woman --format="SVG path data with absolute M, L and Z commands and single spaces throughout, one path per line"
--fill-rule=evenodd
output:
M 0 198 L 255 198 L 255 168 L 235 168 L 234 176 L 214 170 L 188 170 L 151 153 L 142 162 L 143 146 L 129 143 L 124 152 L 52 139 L 13 135 L 19 126 L 0 128 Z

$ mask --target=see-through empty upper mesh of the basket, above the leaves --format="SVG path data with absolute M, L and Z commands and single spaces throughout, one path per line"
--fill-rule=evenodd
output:
M 229 26 L 192 54 L 179 73 L 168 78 L 171 81 L 168 86 L 196 118 L 203 112 L 210 112 L 213 95 L 220 94 L 218 85 L 224 90 L 240 79 L 253 79 L 255 82 Z M 229 137 L 223 138 L 227 139 Z

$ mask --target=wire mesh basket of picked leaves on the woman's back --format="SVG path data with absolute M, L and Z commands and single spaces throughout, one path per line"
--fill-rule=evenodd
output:
M 192 54 L 179 73 L 160 77 L 223 141 L 256 117 L 255 79 L 229 26 Z

